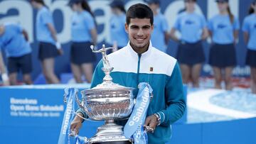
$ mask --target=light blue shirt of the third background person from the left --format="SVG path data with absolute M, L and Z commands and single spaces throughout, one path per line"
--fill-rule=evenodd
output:
M 71 20 L 71 39 L 73 42 L 91 42 L 90 30 L 95 28 L 95 21 L 87 11 L 75 12 Z

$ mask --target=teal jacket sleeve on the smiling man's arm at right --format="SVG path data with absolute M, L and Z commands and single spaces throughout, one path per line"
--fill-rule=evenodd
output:
M 186 109 L 181 71 L 178 67 L 178 62 L 176 62 L 171 77 L 166 83 L 165 94 L 167 107 L 158 113 L 161 116 L 161 125 L 170 126 L 183 116 Z

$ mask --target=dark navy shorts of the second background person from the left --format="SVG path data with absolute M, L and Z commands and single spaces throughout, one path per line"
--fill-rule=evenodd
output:
M 39 60 L 57 57 L 58 55 L 59 55 L 58 50 L 56 46 L 53 45 L 52 43 L 45 43 L 45 42 L 39 43 L 39 50 L 38 50 Z

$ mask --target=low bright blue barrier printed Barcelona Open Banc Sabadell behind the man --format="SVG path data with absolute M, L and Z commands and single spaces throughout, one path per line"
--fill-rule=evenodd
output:
M 55 144 L 65 104 L 65 85 L 0 87 L 0 143 Z M 89 85 L 69 85 L 80 90 Z M 186 120 L 186 117 L 183 117 Z M 80 135 L 92 137 L 101 122 L 85 121 Z M 256 118 L 212 123 L 174 123 L 171 144 L 253 144 Z

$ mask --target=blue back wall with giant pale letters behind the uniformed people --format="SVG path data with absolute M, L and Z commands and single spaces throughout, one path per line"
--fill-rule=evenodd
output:
M 67 0 L 45 0 L 46 5 L 50 11 L 53 12 L 55 28 L 58 31 L 58 38 L 60 42 L 63 44 L 63 49 L 65 54 L 61 57 L 56 58 L 55 72 L 59 75 L 63 72 L 70 72 L 69 65 L 69 51 L 70 51 L 70 16 L 72 15 L 72 11 L 67 6 Z M 143 2 L 140 0 L 128 1 L 126 0 L 126 8 L 130 5 L 138 2 Z M 96 21 L 98 25 L 98 43 L 99 46 L 102 43 L 107 43 L 109 41 L 109 18 L 110 18 L 110 6 L 108 4 L 110 1 L 107 0 L 95 0 L 90 1 L 90 6 L 95 13 Z M 169 0 L 164 1 L 161 0 L 161 12 L 166 16 L 169 29 L 174 24 L 177 13 L 183 9 L 183 1 L 177 0 Z M 247 16 L 247 9 L 250 6 L 250 0 L 242 1 L 242 0 L 232 0 L 230 1 L 230 7 L 235 16 L 238 16 L 240 19 L 240 24 L 242 25 L 242 21 Z M 196 11 L 198 13 L 203 13 L 206 18 L 210 18 L 215 13 L 218 13 L 218 9 L 216 8 L 215 0 L 198 0 L 198 6 Z M 41 73 L 41 67 L 37 55 L 38 55 L 38 43 L 35 38 L 35 20 L 36 20 L 36 11 L 33 10 L 31 4 L 29 4 L 28 0 L 0 0 L 0 23 L 4 22 L 15 22 L 21 23 L 26 31 L 28 31 L 31 47 L 33 48 L 33 78 L 38 77 L 38 74 Z M 170 40 L 169 47 L 167 50 L 169 55 L 174 56 L 176 54 L 176 43 Z M 205 52 L 206 57 L 208 57 L 208 43 L 205 43 Z M 240 31 L 240 40 L 237 45 L 237 57 L 238 57 L 238 67 L 234 70 L 233 74 L 235 76 L 245 76 L 250 74 L 250 69 L 245 67 L 245 55 L 246 55 L 246 46 L 242 40 L 242 32 Z M 98 55 L 98 60 L 100 56 Z M 205 65 L 203 67 L 202 74 L 211 74 L 211 69 L 209 65 Z

